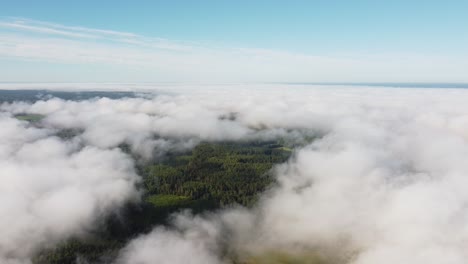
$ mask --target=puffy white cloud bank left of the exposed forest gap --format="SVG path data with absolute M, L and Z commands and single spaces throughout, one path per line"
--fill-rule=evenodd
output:
M 6 114 L 0 126 L 0 262 L 29 263 L 139 198 L 133 161 L 121 151 L 63 141 Z

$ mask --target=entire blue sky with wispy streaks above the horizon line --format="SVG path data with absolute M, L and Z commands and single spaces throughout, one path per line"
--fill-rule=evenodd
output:
M 6 1 L 2 82 L 468 82 L 467 1 Z

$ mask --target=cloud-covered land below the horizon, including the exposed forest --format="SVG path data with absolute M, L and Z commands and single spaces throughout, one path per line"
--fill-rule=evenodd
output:
M 134 92 L 0 92 L 1 263 L 465 263 L 468 90 Z

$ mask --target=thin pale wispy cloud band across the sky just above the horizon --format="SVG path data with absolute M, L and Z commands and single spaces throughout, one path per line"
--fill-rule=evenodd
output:
M 0 58 L 65 65 L 65 70 L 70 65 L 92 65 L 106 72 L 92 75 L 69 70 L 72 81 L 468 81 L 463 71 L 468 60 L 463 57 L 313 55 L 259 47 L 226 48 L 19 18 L 0 20 Z M 0 66 L 10 68 L 5 63 Z M 28 81 L 71 81 L 47 68 L 41 70 L 39 80 Z M 15 81 L 25 75 L 36 73 L 10 69 L 0 73 L 0 80 Z

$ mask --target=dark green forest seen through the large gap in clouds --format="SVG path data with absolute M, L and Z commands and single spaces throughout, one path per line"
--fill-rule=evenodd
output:
M 272 167 L 290 155 L 281 141 L 202 142 L 191 151 L 139 164 L 141 203 L 128 204 L 86 237 L 40 252 L 34 263 L 110 263 L 126 242 L 167 224 L 172 213 L 250 207 L 274 184 Z

